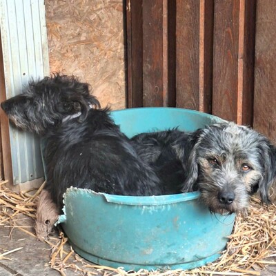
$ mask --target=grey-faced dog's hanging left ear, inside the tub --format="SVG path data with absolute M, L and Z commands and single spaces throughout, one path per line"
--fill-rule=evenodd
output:
M 199 146 L 199 140 L 203 132 L 203 129 L 199 129 L 193 132 L 193 134 L 188 139 L 188 143 L 184 145 L 184 156 L 181 160 L 185 172 L 185 181 L 182 189 L 183 193 L 192 192 L 197 181 L 197 148 Z

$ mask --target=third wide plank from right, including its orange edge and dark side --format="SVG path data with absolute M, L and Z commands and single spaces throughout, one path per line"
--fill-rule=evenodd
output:
M 211 112 L 213 0 L 177 1 L 177 107 Z

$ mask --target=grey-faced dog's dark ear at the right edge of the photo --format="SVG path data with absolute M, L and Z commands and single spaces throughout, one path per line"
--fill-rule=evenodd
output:
M 259 195 L 262 202 L 269 204 L 269 189 L 276 176 L 276 148 L 268 141 L 263 141 L 261 142 L 260 153 L 264 172 L 262 173 L 262 179 L 259 181 Z

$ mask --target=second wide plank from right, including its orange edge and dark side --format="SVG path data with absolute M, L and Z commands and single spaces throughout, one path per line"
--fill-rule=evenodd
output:
M 255 0 L 215 0 L 213 114 L 252 124 Z

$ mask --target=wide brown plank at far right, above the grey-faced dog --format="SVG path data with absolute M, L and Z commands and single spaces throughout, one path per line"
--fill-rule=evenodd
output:
M 276 1 L 257 1 L 254 128 L 276 144 Z

